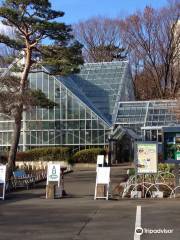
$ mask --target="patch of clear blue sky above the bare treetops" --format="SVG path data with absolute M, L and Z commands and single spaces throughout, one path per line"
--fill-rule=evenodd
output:
M 51 0 L 51 3 L 55 9 L 65 12 L 63 21 L 73 24 L 99 15 L 124 17 L 146 5 L 165 6 L 167 0 Z

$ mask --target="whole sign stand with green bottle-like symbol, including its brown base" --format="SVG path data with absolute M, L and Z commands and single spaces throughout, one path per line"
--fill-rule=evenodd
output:
M 50 188 L 51 186 L 51 188 Z M 47 187 L 46 187 L 46 198 L 54 198 L 56 195 L 56 187 L 59 190 L 57 197 L 62 196 L 62 189 L 61 189 L 61 168 L 60 163 L 48 163 L 47 168 Z M 53 189 L 53 190 L 52 190 Z M 51 192 L 49 194 L 49 191 Z M 48 195 L 53 195 L 49 197 Z

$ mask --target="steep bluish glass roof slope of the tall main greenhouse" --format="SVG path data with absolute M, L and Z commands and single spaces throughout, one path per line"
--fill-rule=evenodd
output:
M 127 61 L 86 63 L 79 74 L 59 80 L 109 124 L 119 101 L 134 100 Z

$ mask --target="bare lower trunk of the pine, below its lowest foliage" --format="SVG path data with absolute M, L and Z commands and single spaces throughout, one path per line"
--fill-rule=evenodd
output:
M 18 119 L 15 119 L 15 122 L 14 122 L 12 144 L 11 144 L 9 156 L 8 156 L 7 180 L 9 180 L 11 178 L 14 167 L 15 167 L 16 153 L 17 153 L 19 138 L 20 138 L 20 134 L 21 134 L 22 113 L 19 112 L 18 114 L 19 114 Z

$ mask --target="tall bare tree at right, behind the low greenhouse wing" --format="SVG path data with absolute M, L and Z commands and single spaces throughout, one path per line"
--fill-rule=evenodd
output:
M 180 3 L 155 10 L 146 7 L 119 21 L 124 46 L 129 49 L 136 86 L 150 98 L 174 98 L 180 86 Z M 141 79 L 141 82 L 140 82 Z M 138 85 L 139 84 L 139 85 Z M 137 89 L 139 91 L 139 89 Z M 141 94 L 140 94 L 141 95 Z M 141 97 L 142 98 L 142 97 Z

